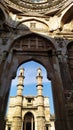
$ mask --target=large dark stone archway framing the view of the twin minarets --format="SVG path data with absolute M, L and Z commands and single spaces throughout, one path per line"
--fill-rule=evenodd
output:
M 55 107 L 56 130 L 68 130 L 65 111 L 65 99 L 63 84 L 60 74 L 59 61 L 56 56 L 53 43 L 39 34 L 29 34 L 16 39 L 9 49 L 4 64 L 1 82 L 1 93 L 3 104 L 1 111 L 4 113 L 7 105 L 7 97 L 10 90 L 12 78 L 20 64 L 30 60 L 41 63 L 47 70 L 47 77 L 52 82 L 52 91 Z M 4 91 L 4 89 L 6 90 Z M 5 106 L 5 107 L 4 107 Z

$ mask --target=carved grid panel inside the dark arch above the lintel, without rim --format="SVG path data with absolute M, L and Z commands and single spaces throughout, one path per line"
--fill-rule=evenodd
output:
M 31 35 L 31 37 L 20 38 L 18 42 L 15 43 L 14 48 L 26 50 L 26 49 L 41 49 L 49 50 L 52 48 L 50 41 L 41 38 L 40 36 Z

